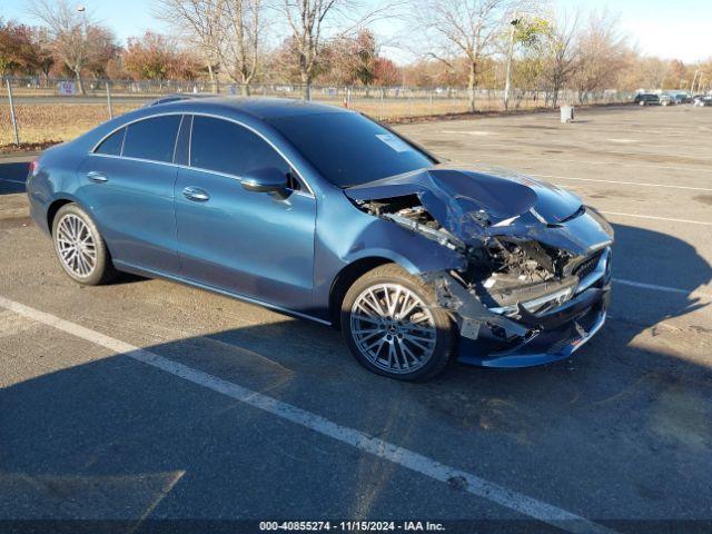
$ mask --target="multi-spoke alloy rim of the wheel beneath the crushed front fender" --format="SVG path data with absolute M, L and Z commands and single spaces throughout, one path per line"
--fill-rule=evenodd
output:
M 400 284 L 364 290 L 352 307 L 350 332 L 364 357 L 395 374 L 413 373 L 427 364 L 437 342 L 432 312 Z

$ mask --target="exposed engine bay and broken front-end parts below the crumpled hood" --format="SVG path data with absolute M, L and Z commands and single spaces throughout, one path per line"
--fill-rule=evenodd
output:
M 439 304 L 462 316 L 463 334 L 472 338 L 479 335 L 483 324 L 505 338 L 526 335 L 526 328 L 510 319 L 535 322 L 537 315 L 566 303 L 597 267 L 603 254 L 596 250 L 589 256 L 578 255 L 526 235 L 500 235 L 484 217 L 479 224 L 490 231 L 465 243 L 439 224 L 416 195 L 355 204 L 466 258 L 465 269 L 428 274 L 426 278 L 436 287 Z M 585 208 L 577 210 L 577 216 L 583 214 Z M 468 295 L 476 297 L 479 306 L 473 305 Z

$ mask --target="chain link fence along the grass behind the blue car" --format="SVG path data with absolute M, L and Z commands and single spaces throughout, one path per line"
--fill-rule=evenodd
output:
M 224 81 L 85 79 L 83 93 L 73 79 L 10 77 L 0 91 L 0 146 L 72 139 L 118 113 L 169 95 L 220 95 L 303 98 L 303 87 L 263 82 L 249 87 Z M 475 110 L 502 111 L 504 91 L 477 89 Z M 600 105 L 632 101 L 620 91 L 578 93 L 560 91 L 558 105 Z M 468 91 L 462 87 L 312 86 L 310 99 L 343 106 L 384 121 L 436 117 L 469 111 Z M 551 91 L 514 89 L 511 111 L 551 108 Z M 6 128 L 9 125 L 10 128 Z

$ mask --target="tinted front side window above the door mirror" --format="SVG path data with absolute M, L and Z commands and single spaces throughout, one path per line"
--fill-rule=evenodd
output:
M 190 165 L 207 170 L 243 176 L 251 169 L 289 166 L 257 134 L 235 122 L 195 117 L 190 138 Z

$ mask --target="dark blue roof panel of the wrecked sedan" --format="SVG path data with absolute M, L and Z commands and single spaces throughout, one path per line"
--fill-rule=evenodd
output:
M 181 111 L 186 112 L 239 111 L 261 120 L 314 113 L 334 113 L 348 111 L 336 106 L 326 106 L 323 103 L 315 103 L 300 99 L 264 97 L 187 98 L 166 103 L 158 103 L 154 107 L 154 109 L 157 108 L 180 108 Z

